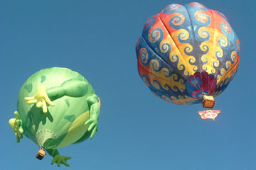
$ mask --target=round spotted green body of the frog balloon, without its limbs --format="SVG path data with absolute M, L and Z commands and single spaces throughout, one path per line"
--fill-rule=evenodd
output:
M 65 82 L 73 81 L 74 86 Z M 86 84 L 86 88 L 76 86 L 80 81 Z M 51 96 L 55 106 L 48 105 L 47 113 L 42 108 L 36 107 L 36 103 L 28 104 L 25 97 L 34 96 L 38 87 L 44 85 L 47 91 L 63 86 L 63 89 L 72 89 L 83 94 L 80 97 Z M 64 86 L 65 85 L 65 86 Z M 85 122 L 90 118 L 90 107 L 87 97 L 95 94 L 89 82 L 78 72 L 70 69 L 53 67 L 36 72 L 23 84 L 18 94 L 18 115 L 22 120 L 23 134 L 45 149 L 56 149 L 78 142 L 87 132 L 89 125 Z

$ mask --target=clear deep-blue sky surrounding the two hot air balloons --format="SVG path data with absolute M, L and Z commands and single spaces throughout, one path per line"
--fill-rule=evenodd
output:
M 255 1 L 198 1 L 228 17 L 240 38 L 240 67 L 216 98 L 222 110 L 202 120 L 201 105 L 178 106 L 157 98 L 137 73 L 135 45 L 144 21 L 167 0 L 0 1 L 0 165 L 57 169 L 38 146 L 16 143 L 8 121 L 18 91 L 34 72 L 68 67 L 90 81 L 102 101 L 92 140 L 59 149 L 70 156 L 60 169 L 253 170 L 256 162 Z

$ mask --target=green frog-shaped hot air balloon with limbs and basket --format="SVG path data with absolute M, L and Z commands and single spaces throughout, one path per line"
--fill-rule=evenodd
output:
M 58 166 L 70 157 L 57 148 L 92 138 L 97 131 L 100 98 L 78 72 L 53 67 L 36 72 L 18 94 L 16 118 L 9 120 L 17 142 L 25 135 L 35 142 L 38 159 L 46 152 Z

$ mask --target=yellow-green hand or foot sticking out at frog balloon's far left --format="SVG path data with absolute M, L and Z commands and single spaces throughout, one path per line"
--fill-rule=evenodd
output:
M 23 137 L 22 120 L 19 118 L 17 111 L 14 112 L 14 115 L 16 118 L 10 119 L 9 125 L 14 130 L 14 133 L 16 135 L 16 141 L 20 142 L 20 139 Z

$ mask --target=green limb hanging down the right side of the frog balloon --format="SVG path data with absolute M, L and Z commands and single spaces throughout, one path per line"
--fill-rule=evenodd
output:
M 100 115 L 100 98 L 95 94 L 87 98 L 88 106 L 90 107 L 90 119 L 85 122 L 85 125 L 89 125 L 88 131 L 91 131 L 90 138 L 95 135 L 98 127 L 98 119 Z

